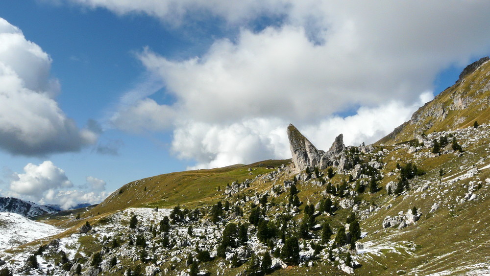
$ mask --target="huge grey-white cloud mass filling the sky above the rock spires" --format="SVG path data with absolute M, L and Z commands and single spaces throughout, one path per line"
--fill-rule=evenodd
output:
M 442 69 L 490 50 L 487 1 L 72 2 L 175 26 L 219 17 L 237 28 L 198 57 L 145 48 L 139 60 L 175 101 L 140 97 L 113 120 L 128 120 L 115 126 L 130 132 L 173 128 L 172 149 L 197 167 L 288 158 L 289 122 L 320 148 L 339 133 L 373 142 L 423 104 Z M 250 27 L 264 17 L 270 26 Z M 357 113 L 335 115 L 349 110 Z

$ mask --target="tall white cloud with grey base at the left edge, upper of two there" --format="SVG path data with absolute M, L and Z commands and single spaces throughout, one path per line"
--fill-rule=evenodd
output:
M 60 86 L 49 77 L 50 67 L 41 47 L 0 18 L 0 147 L 5 151 L 39 156 L 77 151 L 97 140 L 59 108 L 54 97 Z

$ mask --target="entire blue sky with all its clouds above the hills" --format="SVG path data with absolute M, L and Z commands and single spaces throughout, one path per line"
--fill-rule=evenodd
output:
M 1 194 L 69 207 L 157 174 L 290 158 L 290 122 L 319 148 L 341 132 L 374 142 L 489 54 L 489 4 L 458 3 L 2 1 L 0 77 L 25 84 L 0 103 L 21 114 L 0 113 Z

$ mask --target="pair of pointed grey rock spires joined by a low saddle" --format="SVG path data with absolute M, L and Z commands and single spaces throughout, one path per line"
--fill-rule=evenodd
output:
M 334 164 L 337 160 L 334 157 L 345 150 L 342 134 L 337 136 L 330 149 L 324 152 L 317 149 L 294 125 L 290 124 L 287 132 L 293 163 L 297 171 L 304 171 L 307 167 L 325 169 Z

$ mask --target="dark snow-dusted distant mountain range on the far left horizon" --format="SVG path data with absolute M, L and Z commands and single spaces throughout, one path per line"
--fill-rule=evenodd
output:
M 80 203 L 74 206 L 73 209 L 87 206 L 90 206 L 90 204 Z M 39 205 L 18 198 L 0 197 L 0 212 L 16 213 L 28 218 L 44 214 L 56 213 L 61 210 L 61 207 L 57 204 Z

